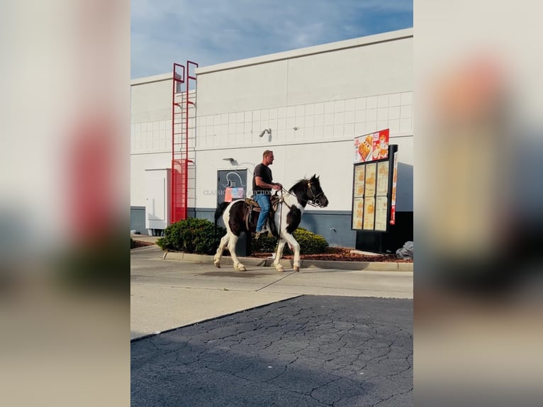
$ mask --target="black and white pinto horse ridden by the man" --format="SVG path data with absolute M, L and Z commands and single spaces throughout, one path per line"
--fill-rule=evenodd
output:
M 300 271 L 300 245 L 296 242 L 292 233 L 300 225 L 303 211 L 308 203 L 320 208 L 328 206 L 328 198 L 326 198 L 323 189 L 320 187 L 320 180 L 316 175 L 313 175 L 310 179 L 301 179 L 289 191 L 284 190 L 284 193 L 281 191 L 281 198 L 273 219 L 275 228 L 273 225 L 269 225 L 270 229 L 274 231 L 276 238 L 279 238 L 279 245 L 277 246 L 274 260 L 274 266 L 278 272 L 284 272 L 284 268 L 279 264 L 279 260 L 281 260 L 283 249 L 287 242 L 294 251 L 293 269 L 296 272 Z M 217 209 L 215 221 L 224 211 L 223 221 L 226 227 L 226 235 L 220 239 L 217 253 L 213 258 L 215 267 L 220 268 L 220 257 L 222 257 L 226 245 L 228 245 L 230 256 L 234 262 L 234 268 L 240 272 L 245 272 L 245 266 L 240 263 L 235 254 L 235 245 L 237 239 L 240 238 L 240 233 L 254 232 L 256 220 L 252 222 L 252 225 L 249 225 L 251 230 L 247 230 L 247 223 L 245 222 L 245 217 L 249 210 L 244 200 L 233 201 L 228 206 L 220 206 Z M 257 218 L 257 216 L 254 216 L 254 218 Z M 268 219 L 268 222 L 271 222 L 271 218 Z

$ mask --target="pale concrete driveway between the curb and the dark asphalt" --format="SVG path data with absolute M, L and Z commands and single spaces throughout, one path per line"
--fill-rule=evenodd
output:
M 130 250 L 131 340 L 303 294 L 413 298 L 413 272 L 407 271 L 312 266 L 278 273 L 262 260 L 247 259 L 257 264 L 237 272 L 229 257 L 221 269 L 207 258 L 163 257 L 155 245 Z

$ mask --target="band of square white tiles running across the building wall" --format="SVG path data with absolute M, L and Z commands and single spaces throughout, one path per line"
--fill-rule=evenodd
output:
M 271 128 L 274 143 L 345 139 L 382 128 L 390 128 L 391 135 L 412 134 L 413 92 L 201 116 L 196 122 L 197 136 L 194 123 L 191 118 L 189 145 L 198 148 L 267 145 L 267 135 L 258 137 L 264 128 Z M 133 153 L 169 152 L 172 148 L 169 120 L 132 123 L 130 132 Z

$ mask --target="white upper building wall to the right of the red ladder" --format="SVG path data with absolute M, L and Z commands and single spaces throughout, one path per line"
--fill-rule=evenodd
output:
M 401 30 L 196 69 L 196 207 L 215 206 L 218 169 L 252 174 L 269 149 L 276 182 L 320 174 L 326 209 L 350 211 L 353 138 L 390 128 L 396 210 L 413 211 L 412 53 L 412 30 Z

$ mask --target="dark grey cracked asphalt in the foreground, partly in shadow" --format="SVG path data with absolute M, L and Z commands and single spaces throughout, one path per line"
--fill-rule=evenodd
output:
M 132 406 L 413 406 L 413 300 L 298 296 L 131 342 Z

